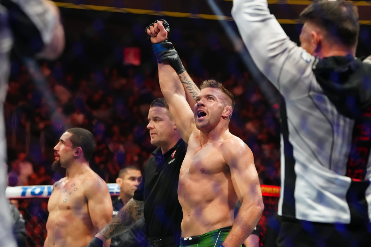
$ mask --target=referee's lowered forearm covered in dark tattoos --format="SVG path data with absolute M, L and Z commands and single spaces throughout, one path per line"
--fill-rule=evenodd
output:
M 130 201 L 112 218 L 102 230 L 105 240 L 115 237 L 129 230 L 142 216 L 144 202 L 130 199 Z

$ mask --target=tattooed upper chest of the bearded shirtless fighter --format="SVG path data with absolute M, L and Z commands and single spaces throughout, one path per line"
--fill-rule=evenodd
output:
M 58 184 L 49 198 L 48 211 L 81 210 L 86 207 L 86 198 L 80 181 Z

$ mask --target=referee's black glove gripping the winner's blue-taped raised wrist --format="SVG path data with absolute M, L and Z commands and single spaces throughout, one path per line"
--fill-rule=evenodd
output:
M 162 41 L 161 43 L 153 44 L 152 47 L 158 63 L 168 62 L 177 74 L 185 71 L 182 61 L 173 47 L 173 43 Z

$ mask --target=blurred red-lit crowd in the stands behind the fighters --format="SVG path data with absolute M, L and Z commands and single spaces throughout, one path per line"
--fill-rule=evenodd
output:
M 63 177 L 63 170 L 52 172 L 50 164 L 54 145 L 70 127 L 94 134 L 91 166 L 107 183 L 114 183 L 125 166 L 142 169 L 155 149 L 146 126 L 151 101 L 162 97 L 157 74 L 139 74 L 128 67 L 125 73 L 105 69 L 76 80 L 71 74 L 59 75 L 60 69 L 58 64 L 52 68 L 42 64 L 44 92 L 23 65 L 10 81 L 5 103 L 9 185 L 53 184 Z M 191 77 L 198 85 L 202 81 L 194 74 Z M 252 149 L 261 183 L 279 185 L 276 116 L 248 73 L 232 74 L 222 83 L 236 98 L 230 131 Z

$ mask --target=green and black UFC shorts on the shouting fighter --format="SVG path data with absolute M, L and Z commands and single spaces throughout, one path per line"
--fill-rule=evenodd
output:
M 192 236 L 192 237 L 181 237 L 181 247 L 219 247 L 226 239 L 227 235 L 231 230 L 231 226 L 223 227 L 217 230 L 209 231 L 208 233 Z

